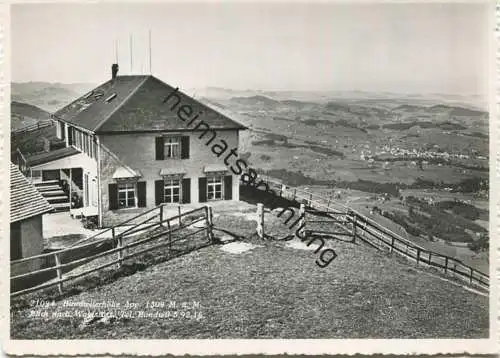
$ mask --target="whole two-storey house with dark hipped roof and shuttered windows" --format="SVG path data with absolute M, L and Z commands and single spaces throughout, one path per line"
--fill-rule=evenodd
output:
M 162 203 L 239 200 L 238 176 L 208 144 L 236 151 L 246 127 L 154 76 L 113 70 L 109 81 L 53 120 L 66 148 L 55 159 L 31 165 L 28 158 L 28 164 L 42 181 L 69 182 L 82 196 L 78 211 L 96 216 L 101 227 Z M 72 168 L 81 168 L 78 177 Z

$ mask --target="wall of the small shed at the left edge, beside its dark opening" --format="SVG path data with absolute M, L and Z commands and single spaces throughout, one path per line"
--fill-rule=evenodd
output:
M 42 215 L 33 216 L 20 222 L 19 237 L 11 240 L 21 240 L 22 258 L 40 255 L 43 252 Z M 38 270 L 43 261 L 33 260 L 11 265 L 11 276 Z

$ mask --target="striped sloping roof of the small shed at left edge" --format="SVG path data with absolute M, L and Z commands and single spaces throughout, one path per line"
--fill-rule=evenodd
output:
M 10 164 L 10 222 L 42 215 L 53 208 L 19 169 Z

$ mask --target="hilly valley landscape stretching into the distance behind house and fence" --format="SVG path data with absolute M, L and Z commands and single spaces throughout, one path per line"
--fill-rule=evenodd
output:
M 12 126 L 48 118 L 93 87 L 14 83 Z M 367 215 L 381 213 L 377 220 L 421 245 L 485 267 L 489 115 L 480 98 L 214 87 L 184 92 L 248 127 L 239 155 L 262 175 Z

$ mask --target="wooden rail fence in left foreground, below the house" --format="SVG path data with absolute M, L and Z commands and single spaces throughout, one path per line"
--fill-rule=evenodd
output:
M 63 283 L 67 281 L 75 280 L 113 265 L 120 268 L 125 260 L 153 250 L 165 247 L 172 250 L 174 243 L 196 234 L 202 233 L 202 239 L 208 239 L 208 242 L 213 241 L 213 215 L 209 206 L 184 213 L 181 212 L 179 207 L 179 214 L 169 218 L 165 218 L 164 213 L 165 205 L 161 205 L 128 220 L 127 222 L 142 219 L 120 233 L 116 232 L 120 226 L 115 226 L 79 242 L 76 246 L 11 261 L 10 296 L 17 297 L 53 286 L 57 286 L 59 293 L 63 293 Z M 195 227 L 194 224 L 196 223 L 202 224 Z M 187 232 L 178 233 L 177 238 L 173 237 L 172 234 L 183 229 L 187 229 Z M 111 232 L 110 237 L 99 237 L 104 236 L 104 233 L 109 233 L 109 231 Z M 148 235 L 141 236 L 138 235 L 139 233 L 147 233 Z M 158 242 L 153 244 L 155 240 Z M 83 267 L 84 270 L 75 272 L 75 268 L 98 259 L 97 266 Z M 27 270 L 27 272 L 15 276 L 12 275 L 13 272 L 19 271 L 19 268 L 29 268 L 30 266 L 35 267 L 35 269 Z M 26 287 L 25 284 L 24 287 L 15 289 L 16 283 L 19 283 L 19 281 L 26 283 L 30 279 L 31 283 L 37 280 L 43 283 L 36 286 L 28 285 L 29 287 Z

